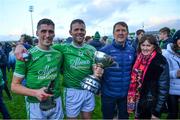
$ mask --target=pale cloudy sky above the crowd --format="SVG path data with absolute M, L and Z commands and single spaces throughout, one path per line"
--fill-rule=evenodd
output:
M 118 21 L 125 21 L 130 32 L 180 28 L 180 0 L 0 0 L 0 35 L 32 35 L 30 5 L 34 33 L 40 19 L 50 18 L 58 37 L 69 36 L 69 24 L 76 18 L 85 21 L 87 35 L 111 35 Z

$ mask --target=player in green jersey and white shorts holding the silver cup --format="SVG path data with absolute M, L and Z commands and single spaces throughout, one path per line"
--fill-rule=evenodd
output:
M 68 118 L 76 119 L 81 112 L 82 119 L 91 119 L 91 113 L 95 107 L 94 94 L 83 90 L 80 82 L 88 75 L 99 77 L 103 70 L 95 66 L 93 56 L 95 48 L 83 41 L 86 34 L 86 26 L 83 20 L 75 19 L 70 24 L 71 43 L 56 44 L 53 48 L 63 54 L 64 97 L 65 109 Z

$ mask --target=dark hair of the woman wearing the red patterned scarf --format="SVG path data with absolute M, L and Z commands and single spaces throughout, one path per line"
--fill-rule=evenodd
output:
M 152 34 L 147 34 L 147 35 L 144 35 L 140 41 L 139 41 L 139 44 L 138 44 L 138 48 L 137 48 L 137 52 L 140 53 L 141 52 L 141 44 L 144 43 L 145 41 L 148 41 L 150 44 L 153 44 L 154 45 L 154 48 L 155 48 L 155 51 L 158 52 L 158 53 L 162 53 L 161 52 L 161 48 L 159 47 L 158 45 L 158 41 L 156 39 L 155 36 L 153 36 Z

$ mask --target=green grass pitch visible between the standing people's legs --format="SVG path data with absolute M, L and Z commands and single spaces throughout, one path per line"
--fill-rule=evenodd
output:
M 7 72 L 8 76 L 8 86 L 10 88 L 11 79 L 12 79 L 12 72 Z M 26 119 L 26 109 L 25 109 L 25 100 L 24 96 L 17 95 L 12 93 L 13 100 L 9 100 L 6 93 L 3 91 L 3 100 L 6 104 L 7 109 L 9 110 L 9 113 L 11 115 L 11 118 L 13 119 Z M 163 114 L 161 119 L 165 119 L 167 114 Z M 96 107 L 93 112 L 93 119 L 102 119 L 102 113 L 101 113 L 101 101 L 100 96 L 96 96 Z M 134 115 L 130 115 L 130 119 L 133 119 Z M 2 115 L 0 114 L 0 119 L 2 119 Z

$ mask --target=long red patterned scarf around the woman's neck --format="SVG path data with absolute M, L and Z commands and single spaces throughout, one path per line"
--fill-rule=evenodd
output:
M 133 66 L 131 73 L 131 83 L 128 91 L 128 112 L 132 113 L 136 109 L 136 104 L 140 98 L 140 90 L 144 81 L 144 76 L 151 63 L 152 59 L 156 56 L 156 51 L 150 55 L 143 55 L 140 53 L 137 56 L 136 62 Z

